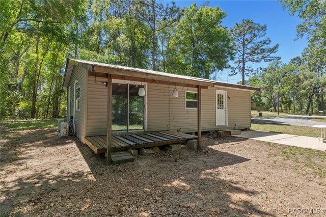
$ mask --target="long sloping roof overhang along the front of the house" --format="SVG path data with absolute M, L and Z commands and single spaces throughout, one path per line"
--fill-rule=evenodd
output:
M 66 71 L 63 83 L 63 89 L 67 89 L 69 80 L 72 74 L 73 66 L 79 66 L 87 69 L 92 73 L 106 73 L 113 74 L 116 76 L 125 76 L 134 79 L 144 79 L 157 82 L 162 81 L 164 84 L 171 85 L 188 85 L 188 86 L 202 86 L 202 87 L 230 87 L 236 89 L 250 90 L 250 91 L 259 91 L 259 88 L 253 88 L 242 85 L 234 85 L 230 83 L 216 82 L 216 80 L 209 80 L 198 77 L 191 77 L 179 74 L 172 74 L 167 72 L 159 72 L 147 69 L 132 68 L 127 66 L 118 66 L 105 63 L 98 63 L 86 60 L 76 60 L 67 58 Z

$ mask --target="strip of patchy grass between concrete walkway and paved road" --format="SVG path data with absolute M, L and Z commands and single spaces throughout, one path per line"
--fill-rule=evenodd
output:
M 306 126 L 294 126 L 285 124 L 265 124 L 265 123 L 253 123 L 251 124 L 253 130 L 264 130 L 270 132 L 279 132 L 292 135 L 305 135 L 306 137 L 319 137 L 320 129 Z

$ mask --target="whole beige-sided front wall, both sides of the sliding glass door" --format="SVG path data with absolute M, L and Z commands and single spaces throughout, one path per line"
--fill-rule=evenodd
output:
M 86 135 L 105 135 L 107 119 L 107 78 L 88 76 L 88 106 Z M 147 131 L 197 131 L 197 110 L 185 109 L 185 91 L 196 88 L 176 87 L 179 97 L 173 98 L 174 86 L 147 84 Z M 228 126 L 216 126 L 215 90 L 227 90 Z M 72 89 L 73 90 L 73 89 Z M 71 113 L 72 114 L 72 113 Z M 227 88 L 202 89 L 202 130 L 247 128 L 250 119 L 250 92 Z

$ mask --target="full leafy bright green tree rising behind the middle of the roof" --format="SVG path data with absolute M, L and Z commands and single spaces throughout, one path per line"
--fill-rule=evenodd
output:
M 209 78 L 222 70 L 233 56 L 231 38 L 221 24 L 225 16 L 219 7 L 187 8 L 177 25 L 168 71 Z

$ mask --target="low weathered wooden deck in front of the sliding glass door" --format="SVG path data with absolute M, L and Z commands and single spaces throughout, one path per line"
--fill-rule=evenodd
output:
M 141 132 L 112 135 L 112 152 L 127 150 L 129 148 L 145 148 L 197 139 L 196 135 L 174 131 Z M 106 135 L 85 137 L 85 143 L 96 153 L 106 152 Z

